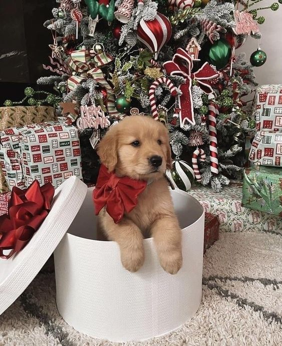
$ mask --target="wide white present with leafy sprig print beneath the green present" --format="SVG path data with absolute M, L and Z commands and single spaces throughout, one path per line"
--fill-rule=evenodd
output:
M 209 187 L 195 186 L 189 194 L 198 199 L 205 212 L 218 215 L 221 232 L 282 230 L 281 217 L 242 206 L 241 187 L 226 186 L 216 193 Z

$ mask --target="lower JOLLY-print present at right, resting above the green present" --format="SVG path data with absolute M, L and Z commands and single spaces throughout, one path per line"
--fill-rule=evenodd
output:
M 251 144 L 249 160 L 255 165 L 281 167 L 282 133 L 265 131 L 257 133 Z

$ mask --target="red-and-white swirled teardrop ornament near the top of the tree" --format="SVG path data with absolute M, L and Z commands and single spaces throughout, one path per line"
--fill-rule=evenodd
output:
M 154 53 L 154 59 L 163 45 L 166 44 L 172 33 L 172 26 L 167 17 L 157 12 L 157 16 L 152 21 L 141 19 L 137 28 L 137 38 L 142 42 L 150 52 Z

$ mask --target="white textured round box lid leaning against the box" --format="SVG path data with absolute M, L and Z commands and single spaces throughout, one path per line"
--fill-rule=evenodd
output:
M 0 315 L 23 293 L 67 233 L 87 193 L 76 176 L 55 190 L 52 208 L 28 245 L 10 259 L 0 258 Z

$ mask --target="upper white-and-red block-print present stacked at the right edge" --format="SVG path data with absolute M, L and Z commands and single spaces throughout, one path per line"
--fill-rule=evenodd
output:
M 256 131 L 282 132 L 282 84 L 261 85 L 251 106 Z

